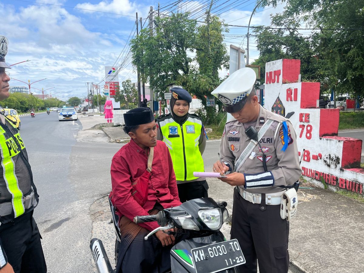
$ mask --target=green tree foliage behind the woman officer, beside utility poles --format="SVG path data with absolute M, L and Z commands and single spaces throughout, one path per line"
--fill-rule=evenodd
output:
M 199 26 L 188 17 L 189 13 L 157 17 L 153 32 L 145 28 L 131 40 L 132 63 L 141 72 L 142 81 L 149 81 L 159 95 L 167 84 L 176 83 L 205 102 L 221 82 L 218 70 L 229 64 L 223 44 L 223 32 L 228 30 L 209 11 Z M 214 107 L 205 107 L 205 111 L 208 122 L 216 119 Z

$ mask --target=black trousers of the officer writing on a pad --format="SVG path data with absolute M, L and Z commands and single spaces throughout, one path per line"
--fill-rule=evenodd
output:
M 246 263 L 240 272 L 287 273 L 289 222 L 282 220 L 280 205 L 253 204 L 234 189 L 231 238 L 239 241 Z

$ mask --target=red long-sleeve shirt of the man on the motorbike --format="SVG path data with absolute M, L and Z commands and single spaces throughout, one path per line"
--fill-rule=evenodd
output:
M 162 141 L 157 141 L 157 146 L 154 147 L 147 201 L 141 206 L 134 200 L 131 195 L 131 182 L 147 169 L 147 160 L 148 155 L 132 139 L 112 158 L 111 185 L 117 214 L 125 215 L 131 221 L 135 216 L 149 215 L 148 211 L 153 209 L 155 202 L 164 208 L 181 205 L 171 155 Z M 157 222 L 139 225 L 149 231 L 159 227 Z

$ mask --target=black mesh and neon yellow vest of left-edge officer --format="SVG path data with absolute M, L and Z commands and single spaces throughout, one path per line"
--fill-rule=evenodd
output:
M 0 221 L 7 223 L 38 204 L 28 154 L 19 131 L 0 122 Z

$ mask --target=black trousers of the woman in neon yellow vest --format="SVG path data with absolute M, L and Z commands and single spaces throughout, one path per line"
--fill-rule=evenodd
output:
M 209 197 L 206 180 L 177 184 L 179 201 L 186 202 L 196 198 Z

